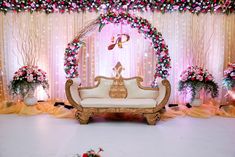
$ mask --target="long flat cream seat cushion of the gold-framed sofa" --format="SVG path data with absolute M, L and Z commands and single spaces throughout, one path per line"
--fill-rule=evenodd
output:
M 83 107 L 126 107 L 153 108 L 157 104 L 154 99 L 115 99 L 115 98 L 87 98 L 81 101 Z

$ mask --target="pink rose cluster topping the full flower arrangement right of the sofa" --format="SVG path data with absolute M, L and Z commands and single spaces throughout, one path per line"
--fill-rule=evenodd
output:
M 190 66 L 182 72 L 182 74 L 180 75 L 180 79 L 182 82 L 186 81 L 207 82 L 207 81 L 212 81 L 214 78 L 208 72 L 207 69 L 203 69 L 198 66 Z

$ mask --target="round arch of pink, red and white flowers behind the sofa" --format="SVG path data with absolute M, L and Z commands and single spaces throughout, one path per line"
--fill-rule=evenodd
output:
M 139 33 L 142 33 L 145 38 L 148 38 L 152 42 L 154 52 L 156 54 L 157 64 L 155 69 L 154 80 L 157 77 L 167 78 L 169 75 L 168 70 L 170 66 L 170 56 L 168 53 L 168 46 L 165 44 L 162 34 L 157 31 L 157 29 L 152 26 L 146 19 L 141 17 L 131 16 L 129 13 L 115 13 L 108 12 L 106 14 L 101 14 L 96 20 L 88 24 L 83 30 L 79 32 L 79 35 L 68 44 L 65 50 L 65 73 L 67 78 L 78 77 L 78 50 L 84 45 L 82 39 L 85 35 L 94 30 L 99 26 L 99 31 L 109 23 L 122 23 L 130 25 L 131 28 L 135 28 Z

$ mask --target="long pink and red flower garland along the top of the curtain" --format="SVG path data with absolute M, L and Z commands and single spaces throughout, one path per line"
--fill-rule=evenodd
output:
M 83 12 L 99 11 L 100 9 L 110 10 L 139 10 L 139 11 L 159 11 L 165 12 L 185 12 L 191 13 L 235 13 L 234 0 L 3 0 L 0 1 L 0 11 L 6 13 L 14 12 Z

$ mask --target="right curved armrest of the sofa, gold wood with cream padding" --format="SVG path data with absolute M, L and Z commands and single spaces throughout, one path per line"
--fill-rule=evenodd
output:
M 157 98 L 158 104 L 156 106 L 156 109 L 160 110 L 167 104 L 170 98 L 171 94 L 170 82 L 167 79 L 160 80 L 158 81 L 158 88 L 159 88 L 159 96 Z

